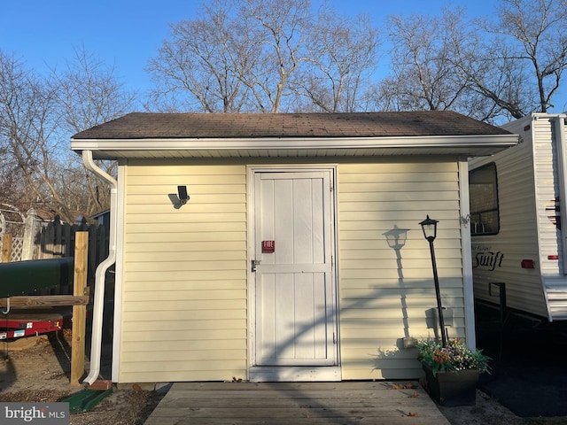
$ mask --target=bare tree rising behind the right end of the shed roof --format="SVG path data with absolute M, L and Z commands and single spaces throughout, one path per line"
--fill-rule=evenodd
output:
M 453 110 L 479 120 L 492 117 L 492 103 L 454 66 L 454 42 L 470 42 L 464 15 L 464 9 L 457 8 L 439 17 L 389 18 L 392 73 L 377 84 L 377 109 Z

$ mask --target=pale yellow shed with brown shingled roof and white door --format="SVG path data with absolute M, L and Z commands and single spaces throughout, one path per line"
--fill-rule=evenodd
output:
M 449 337 L 474 346 L 467 160 L 516 143 L 439 111 L 135 112 L 74 135 L 113 184 L 85 382 L 114 262 L 114 383 L 422 375 L 436 297 L 419 222 L 439 220 Z

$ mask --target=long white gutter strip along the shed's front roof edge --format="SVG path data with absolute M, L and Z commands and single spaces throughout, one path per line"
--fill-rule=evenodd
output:
M 444 135 L 425 137 L 342 138 L 151 138 L 71 139 L 74 151 L 211 151 L 211 150 L 309 150 L 356 148 L 506 148 L 517 144 L 517 135 Z

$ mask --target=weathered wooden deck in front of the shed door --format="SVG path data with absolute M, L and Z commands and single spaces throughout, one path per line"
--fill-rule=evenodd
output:
M 175 383 L 145 425 L 449 425 L 421 385 L 410 384 Z

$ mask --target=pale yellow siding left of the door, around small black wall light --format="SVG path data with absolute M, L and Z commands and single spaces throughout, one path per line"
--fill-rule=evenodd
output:
M 125 182 L 119 382 L 244 377 L 245 166 L 131 162 Z

